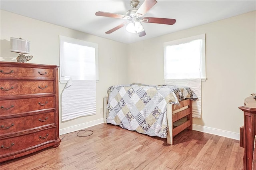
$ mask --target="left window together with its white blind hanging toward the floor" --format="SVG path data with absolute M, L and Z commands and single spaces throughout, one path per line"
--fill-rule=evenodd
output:
M 60 36 L 62 121 L 96 114 L 98 45 Z

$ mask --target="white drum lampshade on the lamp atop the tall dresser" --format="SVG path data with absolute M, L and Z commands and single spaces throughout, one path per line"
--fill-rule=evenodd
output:
M 30 41 L 21 38 L 10 38 L 10 51 L 16 53 L 30 53 Z

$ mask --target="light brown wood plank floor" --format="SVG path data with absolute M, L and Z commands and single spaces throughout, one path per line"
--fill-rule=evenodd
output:
M 60 146 L 2 162 L 1 170 L 241 170 L 244 148 L 238 140 L 194 130 L 174 138 L 152 137 L 100 124 L 93 134 L 61 135 Z M 84 132 L 81 132 L 80 135 Z M 89 133 L 89 132 L 88 132 Z

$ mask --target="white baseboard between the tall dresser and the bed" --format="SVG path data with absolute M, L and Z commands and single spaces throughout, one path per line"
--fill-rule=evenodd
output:
M 72 127 L 63 128 L 63 129 L 60 129 L 60 135 L 70 133 L 70 132 L 75 132 L 77 130 L 82 130 L 84 128 L 99 125 L 101 123 L 104 123 L 103 118 L 95 120 L 95 121 L 87 122 L 87 123 L 82 123 L 80 125 L 75 125 L 75 126 L 72 126 Z

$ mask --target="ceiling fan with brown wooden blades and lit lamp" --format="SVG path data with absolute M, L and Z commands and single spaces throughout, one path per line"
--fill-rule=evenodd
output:
M 142 22 L 148 22 L 148 23 L 156 23 L 156 24 L 167 24 L 167 25 L 173 25 L 175 24 L 175 19 L 170 18 L 154 18 L 154 17 L 144 17 L 144 15 L 157 3 L 156 0 L 145 0 L 143 4 L 138 8 L 140 5 L 140 1 L 138 0 L 132 0 L 130 2 L 130 6 L 132 6 L 131 10 L 128 10 L 126 12 L 126 15 L 122 14 L 114 14 L 110 12 L 96 12 L 96 16 L 106 16 L 111 18 L 120 18 L 126 20 L 119 26 L 116 26 L 112 28 L 111 30 L 108 30 L 106 34 L 110 34 L 119 28 L 122 28 L 123 26 L 126 26 L 126 30 L 131 33 L 136 33 L 140 37 L 145 36 L 146 32 L 140 23 Z

